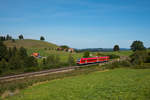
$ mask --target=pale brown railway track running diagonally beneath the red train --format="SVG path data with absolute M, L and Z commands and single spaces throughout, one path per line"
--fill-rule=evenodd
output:
M 121 58 L 120 60 L 118 60 L 118 59 L 111 60 L 109 62 L 99 64 L 99 65 L 101 66 L 101 65 L 105 65 L 105 64 L 111 64 L 113 62 L 123 61 L 123 60 L 126 60 L 126 58 Z M 38 72 L 23 73 L 23 74 L 18 74 L 18 75 L 4 76 L 4 77 L 0 77 L 0 82 L 13 81 L 13 80 L 23 79 L 23 78 L 27 78 L 27 77 L 43 76 L 43 75 L 48 75 L 48 74 L 60 73 L 60 72 L 68 72 L 68 71 L 75 70 L 76 68 L 91 66 L 91 65 L 96 65 L 96 64 L 89 64 L 89 65 L 83 65 L 83 66 L 71 66 L 71 67 L 50 69 L 50 70 L 44 70 L 44 71 L 38 71 Z

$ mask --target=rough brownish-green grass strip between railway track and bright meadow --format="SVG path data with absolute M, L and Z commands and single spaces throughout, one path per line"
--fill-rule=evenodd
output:
M 24 88 L 31 86 L 38 82 L 49 81 L 49 80 L 53 80 L 53 79 L 61 79 L 64 77 L 76 76 L 76 75 L 81 75 L 81 74 L 87 74 L 87 73 L 97 71 L 97 70 L 101 70 L 101 68 L 98 67 L 97 65 L 93 65 L 93 66 L 78 68 L 74 71 L 69 71 L 69 72 L 65 72 L 65 73 L 56 73 L 56 74 L 50 74 L 50 75 L 46 75 L 46 76 L 37 76 L 35 78 L 26 77 L 25 79 L 20 79 L 20 80 L 16 80 L 16 81 L 0 82 L 0 96 L 4 92 L 6 92 L 6 93 L 4 93 L 4 96 L 8 92 L 13 94 L 13 92 L 15 90 L 24 89 Z

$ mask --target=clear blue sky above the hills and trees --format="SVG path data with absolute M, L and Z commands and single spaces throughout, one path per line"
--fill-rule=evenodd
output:
M 73 48 L 150 47 L 150 0 L 0 0 L 0 35 Z

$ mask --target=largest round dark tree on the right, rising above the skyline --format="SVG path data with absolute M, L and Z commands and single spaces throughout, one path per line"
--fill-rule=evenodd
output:
M 142 41 L 133 41 L 132 45 L 130 46 L 132 51 L 136 50 L 145 50 L 145 47 L 143 45 Z

